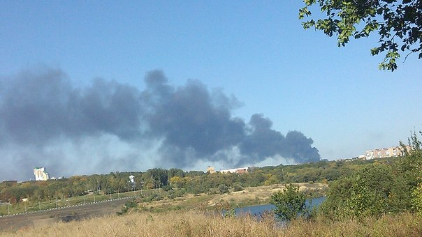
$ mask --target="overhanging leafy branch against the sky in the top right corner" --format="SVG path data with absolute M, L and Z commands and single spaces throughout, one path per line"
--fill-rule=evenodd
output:
M 371 49 L 372 55 L 385 52 L 379 63 L 383 70 L 397 69 L 400 52 L 419 53 L 422 58 L 422 0 L 304 0 L 299 18 L 310 17 L 310 6 L 317 5 L 325 19 L 307 20 L 304 29 L 323 31 L 337 36 L 338 46 L 349 43 L 350 38 L 379 34 L 379 46 Z M 362 23 L 362 24 L 361 24 Z

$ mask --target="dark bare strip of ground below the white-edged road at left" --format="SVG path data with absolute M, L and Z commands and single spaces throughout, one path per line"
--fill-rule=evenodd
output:
M 122 211 L 122 206 L 129 200 L 131 199 L 115 199 L 48 211 L 3 216 L 0 217 L 0 231 L 15 231 L 26 227 L 34 227 L 41 223 L 69 222 L 71 220 L 82 220 L 87 217 L 115 214 L 118 211 Z

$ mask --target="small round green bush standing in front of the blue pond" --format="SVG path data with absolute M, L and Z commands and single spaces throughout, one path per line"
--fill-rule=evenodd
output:
M 286 189 L 272 194 L 271 204 L 275 206 L 275 215 L 281 220 L 294 220 L 307 211 L 305 194 L 293 184 L 286 185 Z

